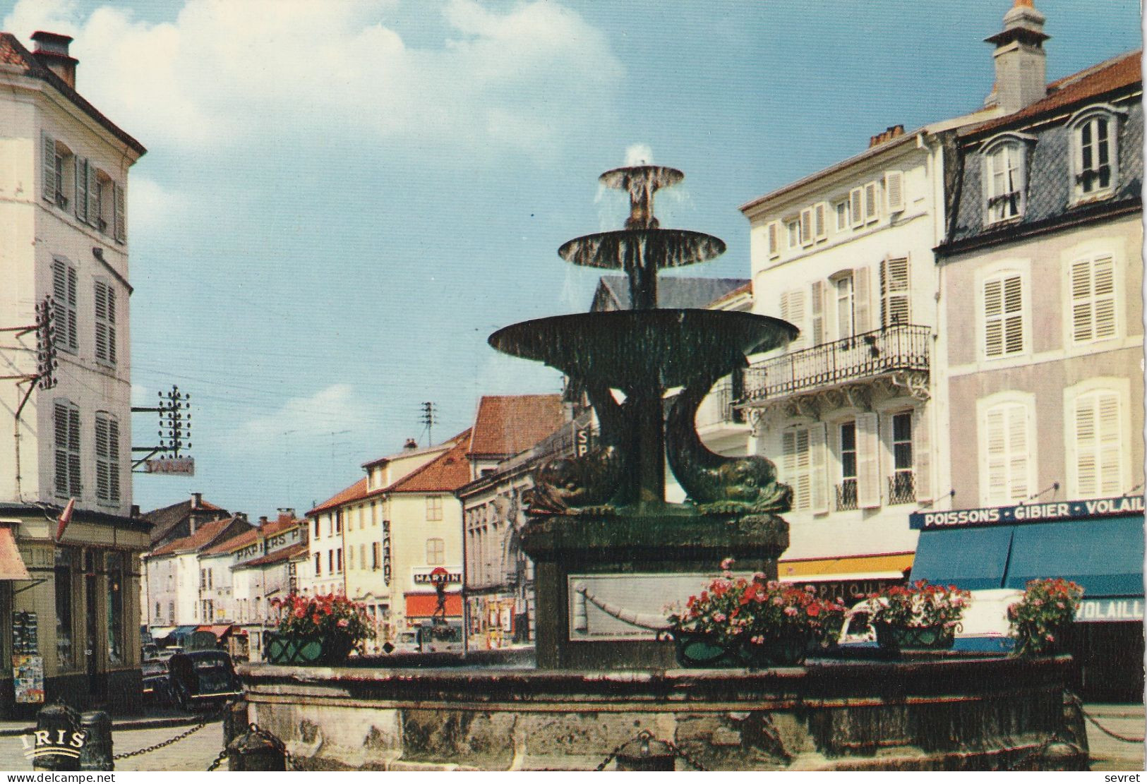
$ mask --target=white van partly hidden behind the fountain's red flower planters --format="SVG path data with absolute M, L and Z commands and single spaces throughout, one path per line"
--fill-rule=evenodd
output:
M 960 629 L 955 633 L 954 651 L 1006 653 L 1015 645 L 1008 636 L 1007 609 L 1023 597 L 1014 588 L 991 588 L 972 591 L 972 601 L 963 609 Z M 837 644 L 842 648 L 872 648 L 876 645 L 876 630 L 868 622 L 876 599 L 865 599 L 844 613 Z

